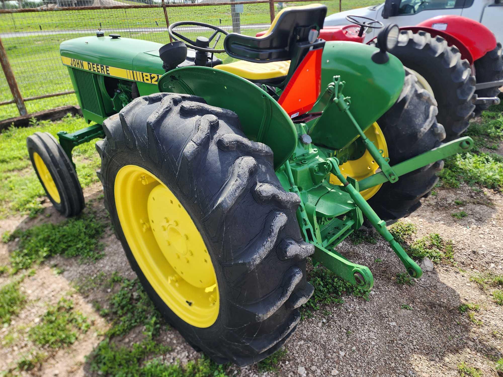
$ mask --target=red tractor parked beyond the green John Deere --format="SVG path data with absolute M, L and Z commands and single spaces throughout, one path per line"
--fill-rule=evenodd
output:
M 369 17 L 347 16 L 346 20 L 355 25 L 326 26 L 320 38 L 364 43 L 368 29 L 383 27 L 382 22 Z M 380 47 L 378 38 L 367 44 Z M 396 45 L 388 51 L 435 97 L 437 119 L 445 127 L 446 141 L 459 137 L 470 118 L 499 104 L 499 87 L 503 86 L 501 43 L 476 21 L 449 15 L 401 27 Z

